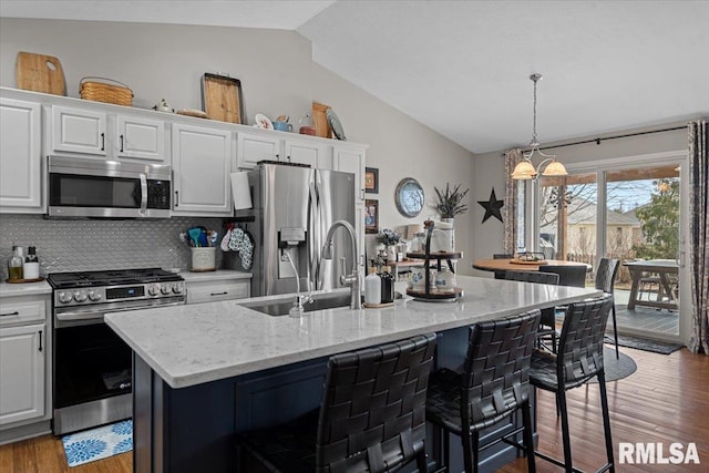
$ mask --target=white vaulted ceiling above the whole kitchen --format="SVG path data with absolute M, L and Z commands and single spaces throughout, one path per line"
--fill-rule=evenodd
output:
M 11 1 L 0 16 L 296 30 L 473 153 L 709 116 L 708 1 Z

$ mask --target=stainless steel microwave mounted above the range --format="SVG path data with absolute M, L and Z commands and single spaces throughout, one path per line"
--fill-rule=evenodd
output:
M 169 218 L 168 165 L 49 156 L 49 217 Z

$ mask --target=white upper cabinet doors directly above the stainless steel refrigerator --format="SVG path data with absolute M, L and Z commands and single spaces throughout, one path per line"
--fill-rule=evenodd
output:
M 320 169 L 332 168 L 331 146 L 316 140 L 279 136 L 277 132 L 238 133 L 237 165 L 250 169 L 259 161 L 307 164 Z

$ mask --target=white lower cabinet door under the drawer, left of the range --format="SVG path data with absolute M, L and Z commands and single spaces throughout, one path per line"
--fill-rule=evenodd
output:
M 0 425 L 44 415 L 44 323 L 0 328 Z

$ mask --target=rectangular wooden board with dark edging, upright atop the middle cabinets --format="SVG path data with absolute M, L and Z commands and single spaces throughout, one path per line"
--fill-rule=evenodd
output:
M 212 120 L 246 124 L 242 103 L 242 81 L 205 73 L 202 81 L 202 105 Z

